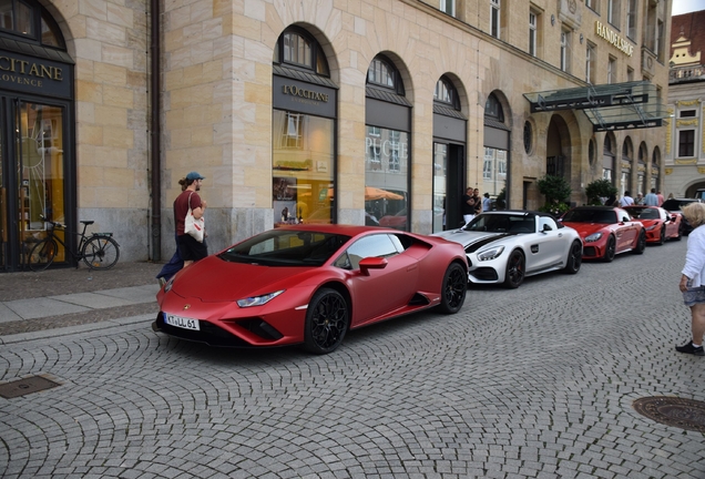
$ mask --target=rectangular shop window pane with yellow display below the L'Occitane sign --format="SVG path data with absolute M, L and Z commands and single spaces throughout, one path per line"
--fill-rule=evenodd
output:
M 274 111 L 275 226 L 333 223 L 334 121 Z

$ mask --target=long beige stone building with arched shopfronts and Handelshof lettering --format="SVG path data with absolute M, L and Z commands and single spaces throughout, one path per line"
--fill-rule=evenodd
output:
M 2 0 L 0 267 L 22 268 L 40 215 L 94 220 L 124 259 L 171 255 L 172 202 L 194 170 L 211 251 L 298 221 L 432 233 L 459 224 L 467 186 L 542 206 L 545 174 L 576 204 L 601 177 L 660 187 L 670 11 Z

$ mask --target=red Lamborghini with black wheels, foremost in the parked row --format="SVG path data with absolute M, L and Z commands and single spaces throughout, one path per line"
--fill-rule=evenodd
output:
M 336 349 L 348 329 L 466 298 L 461 245 L 396 230 L 290 225 L 182 269 L 156 295 L 155 332 L 213 346 Z

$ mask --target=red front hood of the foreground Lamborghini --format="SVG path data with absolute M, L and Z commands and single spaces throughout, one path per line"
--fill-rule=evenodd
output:
M 231 263 L 213 255 L 181 271 L 170 293 L 204 303 L 232 302 L 302 286 L 320 267 Z

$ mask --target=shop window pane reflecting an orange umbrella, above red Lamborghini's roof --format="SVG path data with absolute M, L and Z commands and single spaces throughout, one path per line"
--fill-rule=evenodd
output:
M 366 217 L 408 230 L 409 134 L 367 126 L 365 146 Z

